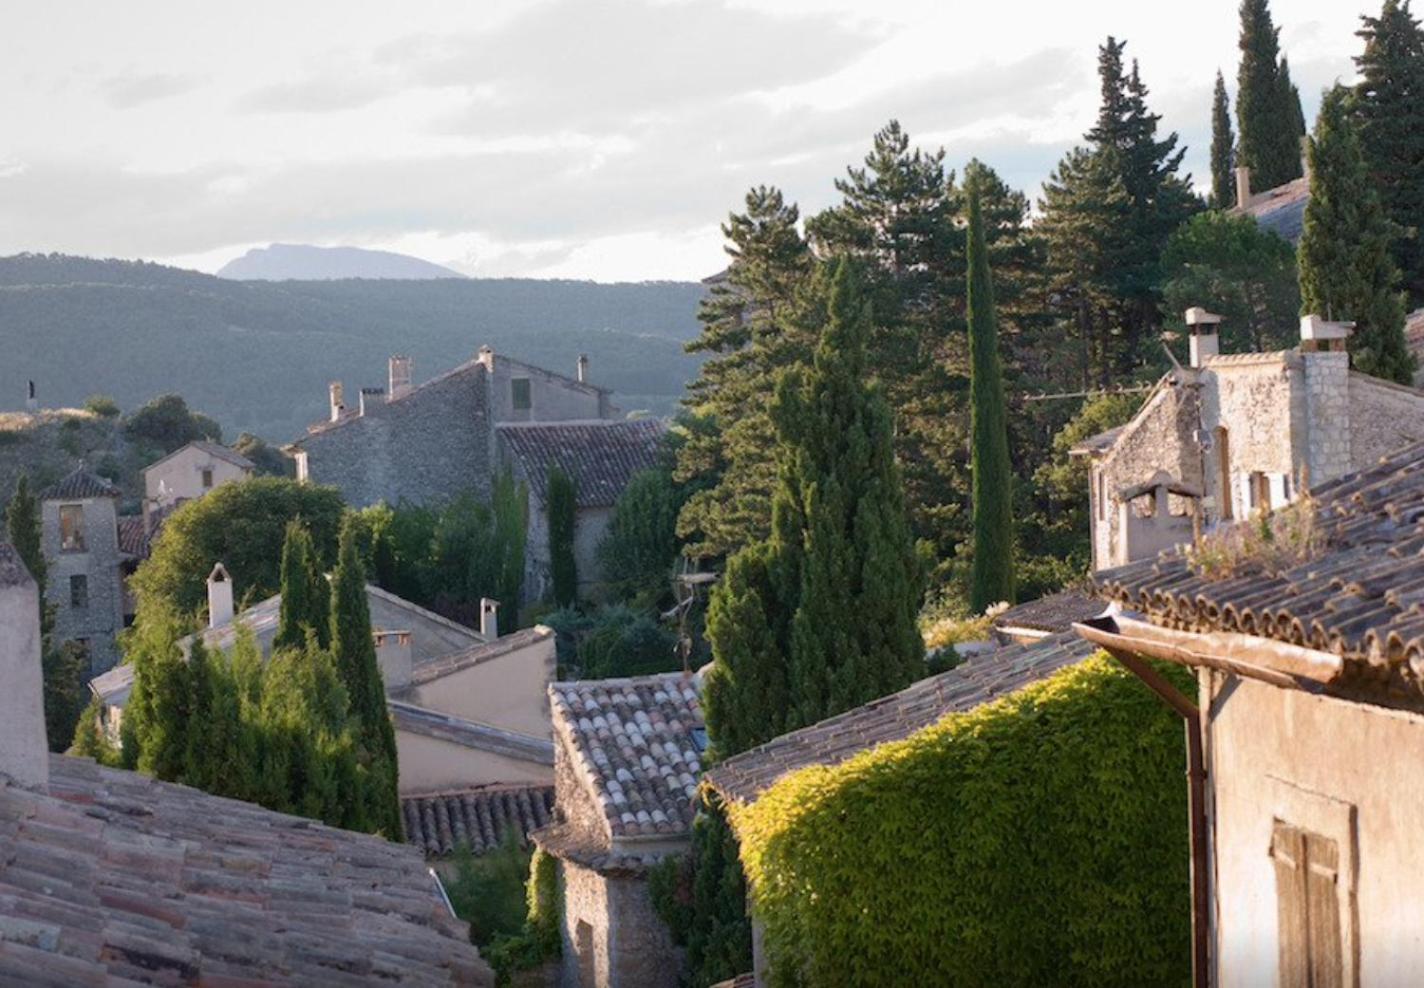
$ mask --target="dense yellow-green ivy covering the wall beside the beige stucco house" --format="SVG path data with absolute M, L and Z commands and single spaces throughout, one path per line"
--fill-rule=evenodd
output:
M 732 804 L 772 984 L 1189 982 L 1185 770 L 1099 655 Z

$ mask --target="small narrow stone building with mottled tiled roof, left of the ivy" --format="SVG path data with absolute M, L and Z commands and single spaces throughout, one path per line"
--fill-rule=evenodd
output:
M 560 861 L 564 988 L 676 984 L 682 952 L 652 908 L 648 870 L 691 846 L 706 730 L 682 673 L 560 682 L 554 823 L 533 834 Z

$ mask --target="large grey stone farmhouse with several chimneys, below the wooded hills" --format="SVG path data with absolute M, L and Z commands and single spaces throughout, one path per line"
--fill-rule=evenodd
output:
M 412 383 L 410 357 L 390 357 L 387 387 L 360 389 L 355 407 L 342 382 L 329 389 L 329 417 L 286 447 L 298 480 L 330 484 L 352 507 L 384 501 L 434 504 L 459 494 L 487 497 L 511 468 L 530 485 L 525 587 L 548 587 L 543 491 L 558 463 L 578 488 L 577 562 L 598 581 L 594 552 L 628 478 L 656 463 L 662 426 L 625 421 L 611 393 L 577 376 L 544 370 L 480 347 L 478 354 L 424 384 Z

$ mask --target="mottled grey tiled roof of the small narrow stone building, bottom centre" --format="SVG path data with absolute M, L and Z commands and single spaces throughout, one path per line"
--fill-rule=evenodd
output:
M 614 837 L 692 827 L 703 722 L 691 678 L 580 679 L 551 683 L 548 695 L 554 730 L 592 786 Z

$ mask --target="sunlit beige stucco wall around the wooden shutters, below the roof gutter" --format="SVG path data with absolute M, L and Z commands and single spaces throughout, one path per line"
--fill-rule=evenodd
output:
M 1203 672 L 1222 988 L 1276 984 L 1274 819 L 1333 839 L 1358 982 L 1424 982 L 1424 718 Z M 1349 863 L 1353 860 L 1353 868 Z M 1351 888 L 1353 885 L 1353 888 Z M 1356 984 L 1347 979 L 1344 984 Z

